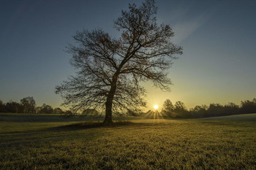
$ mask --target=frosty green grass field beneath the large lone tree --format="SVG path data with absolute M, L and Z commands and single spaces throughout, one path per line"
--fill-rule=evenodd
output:
M 0 169 L 256 169 L 256 114 L 84 120 L 1 113 Z

